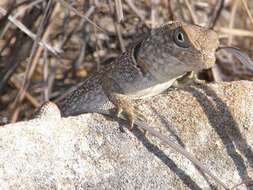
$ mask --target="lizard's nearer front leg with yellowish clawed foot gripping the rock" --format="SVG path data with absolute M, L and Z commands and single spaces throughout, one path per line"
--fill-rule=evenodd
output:
M 133 128 L 135 120 L 146 120 L 145 116 L 136 108 L 133 101 L 127 95 L 123 94 L 122 89 L 115 80 L 104 77 L 102 87 L 108 99 L 116 107 L 117 117 L 120 114 L 126 115 L 130 124 L 130 130 Z

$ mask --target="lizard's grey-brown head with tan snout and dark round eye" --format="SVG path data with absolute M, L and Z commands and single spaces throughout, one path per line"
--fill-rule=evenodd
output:
M 150 32 L 139 45 L 136 60 L 147 64 L 152 75 L 166 81 L 188 71 L 212 67 L 218 46 L 215 31 L 173 21 Z

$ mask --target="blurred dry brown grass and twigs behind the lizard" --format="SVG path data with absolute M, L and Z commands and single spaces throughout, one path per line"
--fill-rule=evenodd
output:
M 169 20 L 213 28 L 222 45 L 253 57 L 252 15 L 252 0 L 1 0 L 0 124 L 30 118 Z M 209 82 L 252 76 L 224 51 L 200 74 Z

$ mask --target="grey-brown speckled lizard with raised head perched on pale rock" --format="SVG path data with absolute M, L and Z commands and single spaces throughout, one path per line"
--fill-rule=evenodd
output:
M 197 25 L 170 21 L 94 72 L 56 102 L 63 116 L 117 109 L 130 128 L 145 119 L 133 100 L 155 96 L 176 79 L 215 64 L 218 34 Z M 188 73 L 188 74 L 187 74 Z

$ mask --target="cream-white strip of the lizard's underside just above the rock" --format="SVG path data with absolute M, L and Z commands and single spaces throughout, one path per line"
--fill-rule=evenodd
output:
M 131 93 L 126 93 L 126 95 L 128 95 L 132 99 L 152 97 L 152 96 L 160 94 L 163 91 L 165 91 L 166 89 L 168 89 L 175 82 L 175 80 L 176 80 L 176 78 L 171 79 L 168 82 L 160 83 L 160 84 L 157 84 L 157 85 L 154 85 L 154 86 L 142 89 L 142 90 L 138 90 L 138 91 L 131 92 Z

